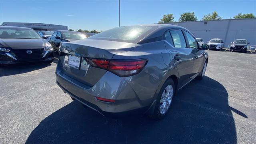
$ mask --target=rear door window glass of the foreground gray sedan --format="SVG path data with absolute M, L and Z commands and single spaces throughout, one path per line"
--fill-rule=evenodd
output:
M 172 42 L 175 48 L 186 48 L 186 41 L 181 30 L 170 31 Z

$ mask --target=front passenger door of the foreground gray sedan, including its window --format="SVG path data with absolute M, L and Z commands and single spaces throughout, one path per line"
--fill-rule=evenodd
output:
M 186 41 L 188 43 L 188 48 L 191 49 L 192 55 L 194 57 L 194 66 L 192 69 L 192 74 L 195 75 L 202 70 L 203 61 L 204 61 L 204 50 L 199 49 L 198 43 L 196 39 L 190 32 L 184 31 Z

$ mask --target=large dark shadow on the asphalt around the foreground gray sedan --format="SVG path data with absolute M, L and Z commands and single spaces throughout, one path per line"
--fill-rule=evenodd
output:
M 67 95 L 68 96 L 68 95 Z M 243 114 L 238 110 L 236 113 Z M 247 117 L 247 116 L 246 116 Z M 102 117 L 73 101 L 46 117 L 26 143 L 236 143 L 228 93 L 207 76 L 174 97 L 166 118 Z

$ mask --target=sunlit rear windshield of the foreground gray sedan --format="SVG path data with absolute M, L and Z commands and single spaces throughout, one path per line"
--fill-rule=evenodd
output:
M 156 26 L 121 26 L 100 32 L 88 39 L 137 43 L 155 29 Z

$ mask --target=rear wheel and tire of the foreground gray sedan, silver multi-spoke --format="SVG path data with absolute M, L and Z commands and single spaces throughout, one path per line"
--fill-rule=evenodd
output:
M 151 116 L 152 118 L 155 120 L 161 120 L 166 116 L 172 104 L 175 90 L 175 84 L 172 79 L 168 79 L 166 82 L 164 82 L 158 94 L 154 113 Z

